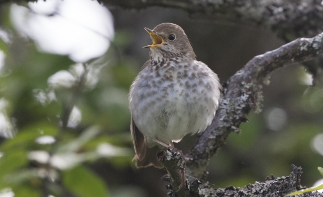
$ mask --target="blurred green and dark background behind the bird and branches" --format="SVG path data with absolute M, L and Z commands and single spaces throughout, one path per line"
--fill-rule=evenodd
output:
M 197 59 L 226 82 L 253 56 L 284 44 L 275 32 L 161 7 L 124 10 L 90 0 L 0 7 L 0 196 L 166 196 L 167 172 L 136 169 L 128 90 L 148 59 L 144 27 L 176 23 Z M 241 187 L 303 168 L 321 179 L 323 90 L 297 63 L 264 86 L 250 113 L 209 164 L 207 181 Z M 176 146 L 184 154 L 197 136 Z M 47 178 L 48 177 L 48 178 Z M 206 181 L 206 180 L 205 180 Z

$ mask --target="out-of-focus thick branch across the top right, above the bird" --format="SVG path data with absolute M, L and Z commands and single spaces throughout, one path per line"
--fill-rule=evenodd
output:
M 152 6 L 177 8 L 209 19 L 219 20 L 219 17 L 226 17 L 248 21 L 278 31 L 279 37 L 285 41 L 314 36 L 321 32 L 323 26 L 323 7 L 318 0 L 100 0 L 99 2 L 127 9 L 144 9 Z

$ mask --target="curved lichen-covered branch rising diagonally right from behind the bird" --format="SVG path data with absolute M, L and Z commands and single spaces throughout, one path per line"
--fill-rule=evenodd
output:
M 186 155 L 186 170 L 202 178 L 210 157 L 222 147 L 231 132 L 239 132 L 247 114 L 260 111 L 262 84 L 269 75 L 287 63 L 303 62 L 323 52 L 323 33 L 313 38 L 299 38 L 280 48 L 252 58 L 224 84 L 220 107 L 210 126 Z

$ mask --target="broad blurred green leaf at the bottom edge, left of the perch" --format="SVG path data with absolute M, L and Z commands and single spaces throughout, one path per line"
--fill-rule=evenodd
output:
M 63 171 L 63 184 L 80 197 L 106 197 L 104 181 L 83 166 Z

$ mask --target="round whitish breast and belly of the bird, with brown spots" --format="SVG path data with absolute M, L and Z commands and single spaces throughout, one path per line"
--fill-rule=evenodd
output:
M 154 139 L 169 144 L 180 141 L 186 134 L 203 132 L 218 107 L 220 84 L 216 74 L 197 77 L 195 72 L 192 78 L 191 74 L 183 77 L 185 70 L 172 71 L 173 80 L 160 82 L 156 76 L 151 80 L 142 76 L 130 92 L 133 119 L 148 146 Z M 160 76 L 165 73 L 166 70 L 159 71 Z

